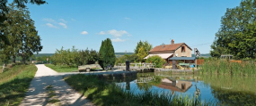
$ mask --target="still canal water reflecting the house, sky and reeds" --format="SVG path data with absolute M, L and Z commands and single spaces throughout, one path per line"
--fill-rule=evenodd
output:
M 138 73 L 137 77 L 113 80 L 135 94 L 146 91 L 157 94 L 178 94 L 226 105 L 256 105 L 256 77 L 171 75 Z

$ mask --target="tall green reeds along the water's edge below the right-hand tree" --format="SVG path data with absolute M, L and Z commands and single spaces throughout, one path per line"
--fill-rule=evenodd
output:
M 210 60 L 204 62 L 200 73 L 216 75 L 256 76 L 256 62 L 234 62 L 227 60 Z

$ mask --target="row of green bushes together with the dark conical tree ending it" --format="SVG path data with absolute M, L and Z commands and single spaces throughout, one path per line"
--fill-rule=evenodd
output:
M 116 61 L 114 47 L 110 38 L 102 41 L 102 45 L 99 53 L 96 50 L 77 50 L 75 46 L 72 49 L 57 50 L 54 55 L 49 59 L 54 65 L 60 65 L 63 67 L 77 67 L 86 64 L 94 64 L 98 62 L 102 68 L 106 68 L 108 65 L 114 66 Z

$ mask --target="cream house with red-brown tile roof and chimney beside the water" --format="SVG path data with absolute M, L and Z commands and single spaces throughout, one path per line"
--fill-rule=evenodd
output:
M 191 57 L 192 49 L 185 43 L 174 44 L 174 40 L 170 45 L 158 45 L 151 49 L 148 55 L 144 58 L 147 59 L 150 56 L 158 55 L 165 61 L 169 61 L 172 57 Z

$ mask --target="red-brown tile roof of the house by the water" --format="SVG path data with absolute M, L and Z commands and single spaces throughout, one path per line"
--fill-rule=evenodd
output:
M 185 43 L 179 43 L 179 44 L 172 44 L 172 45 L 158 45 L 155 46 L 153 49 L 151 49 L 149 52 L 160 52 L 160 51 L 174 51 L 177 50 L 181 45 L 186 45 Z M 189 45 L 187 45 L 188 48 L 190 48 Z M 190 50 L 192 50 L 190 48 Z

